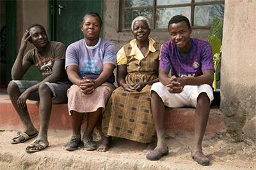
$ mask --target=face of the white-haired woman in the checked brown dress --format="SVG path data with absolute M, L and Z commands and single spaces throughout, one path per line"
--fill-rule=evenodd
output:
M 133 25 L 132 34 L 137 41 L 145 41 L 150 34 L 150 28 L 145 20 L 138 20 Z

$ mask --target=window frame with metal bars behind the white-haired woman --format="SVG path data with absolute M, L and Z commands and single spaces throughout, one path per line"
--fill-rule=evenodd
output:
M 143 7 L 125 7 L 125 0 L 121 0 L 119 3 L 119 24 L 118 24 L 118 32 L 122 31 L 131 31 L 131 29 L 127 29 L 124 27 L 125 25 L 125 10 L 144 10 L 144 9 L 152 9 L 152 17 L 153 22 L 151 27 L 152 31 L 166 31 L 165 28 L 156 28 L 156 10 L 161 8 L 175 8 L 175 7 L 190 7 L 191 8 L 191 18 L 190 24 L 192 29 L 210 29 L 211 26 L 194 26 L 194 16 L 195 16 L 195 6 L 205 6 L 205 5 L 212 5 L 212 4 L 223 4 L 225 5 L 225 0 L 221 1 L 209 1 L 209 2 L 195 2 L 195 0 L 191 0 L 191 3 L 184 3 L 184 4 L 172 4 L 172 5 L 161 5 L 157 6 L 157 0 L 154 0 L 153 6 L 143 6 Z

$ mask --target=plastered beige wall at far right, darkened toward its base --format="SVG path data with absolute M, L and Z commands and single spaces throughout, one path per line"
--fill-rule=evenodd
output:
M 235 139 L 256 142 L 256 1 L 226 0 L 221 111 Z

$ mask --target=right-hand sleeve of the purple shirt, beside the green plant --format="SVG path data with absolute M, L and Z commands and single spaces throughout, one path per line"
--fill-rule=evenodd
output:
M 212 48 L 209 43 L 205 43 L 204 48 L 202 48 L 201 52 L 201 63 L 202 63 L 202 71 L 205 70 L 214 70 L 214 62 L 212 59 Z

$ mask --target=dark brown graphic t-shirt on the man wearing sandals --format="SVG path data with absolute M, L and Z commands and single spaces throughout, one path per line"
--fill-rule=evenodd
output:
M 65 45 L 60 42 L 50 41 L 47 45 L 47 50 L 44 55 L 33 48 L 23 58 L 23 62 L 30 65 L 35 65 L 42 73 L 44 78 L 52 74 L 52 68 L 56 60 L 65 60 Z M 60 81 L 68 81 L 67 73 L 63 67 L 63 74 L 61 74 Z

